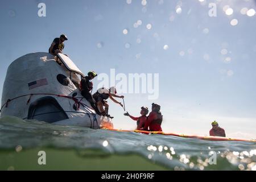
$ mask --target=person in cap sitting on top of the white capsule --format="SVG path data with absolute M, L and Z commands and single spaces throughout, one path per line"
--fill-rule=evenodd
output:
M 68 38 L 64 34 L 60 35 L 60 38 L 55 38 L 51 44 L 51 47 L 49 47 L 49 53 L 51 53 L 53 56 L 56 56 L 57 53 L 62 53 L 65 47 L 65 40 L 68 40 Z

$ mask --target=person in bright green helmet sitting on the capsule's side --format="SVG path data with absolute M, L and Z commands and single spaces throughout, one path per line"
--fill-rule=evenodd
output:
M 88 102 L 90 102 L 90 105 L 93 107 L 96 113 L 99 114 L 99 111 L 96 107 L 96 102 L 92 96 L 93 82 L 91 80 L 96 76 L 97 76 L 96 72 L 94 71 L 88 72 L 88 76 L 83 77 L 80 81 L 80 90 L 81 90 L 82 96 L 86 98 Z

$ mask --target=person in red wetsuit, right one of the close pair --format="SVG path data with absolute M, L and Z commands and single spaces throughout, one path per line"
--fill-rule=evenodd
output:
M 162 131 L 161 125 L 163 121 L 163 115 L 160 112 L 160 106 L 158 104 L 152 104 L 152 111 L 148 115 L 144 129 L 148 131 Z

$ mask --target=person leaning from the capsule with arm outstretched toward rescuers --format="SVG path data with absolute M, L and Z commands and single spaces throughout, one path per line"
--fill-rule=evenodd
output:
M 110 116 L 108 101 L 106 101 L 106 100 L 108 100 L 108 98 L 110 98 L 110 100 L 112 100 L 113 102 L 115 102 L 123 107 L 121 102 L 118 102 L 117 100 L 115 100 L 114 97 L 124 98 L 124 96 L 117 95 L 117 90 L 115 89 L 114 86 L 112 86 L 110 89 L 100 88 L 97 90 L 96 93 L 93 94 L 93 98 L 96 101 L 96 106 L 97 106 L 98 110 L 100 111 L 101 115 Z M 105 107 L 105 109 L 104 109 L 104 107 Z

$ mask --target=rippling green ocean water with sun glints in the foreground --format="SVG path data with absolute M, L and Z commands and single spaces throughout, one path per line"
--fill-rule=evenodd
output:
M 39 151 L 46 153 L 46 165 L 39 165 Z M 256 170 L 256 143 L 93 130 L 3 117 L 0 169 Z

